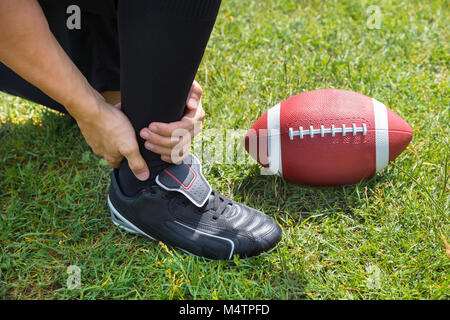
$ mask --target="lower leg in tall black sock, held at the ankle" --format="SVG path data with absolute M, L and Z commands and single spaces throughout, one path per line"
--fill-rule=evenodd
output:
M 154 183 L 168 164 L 144 148 L 139 131 L 183 116 L 186 98 L 213 29 L 220 0 L 125 1 L 117 5 L 122 111 L 136 131 L 150 178 L 139 181 L 126 160 L 119 168 L 125 194 Z

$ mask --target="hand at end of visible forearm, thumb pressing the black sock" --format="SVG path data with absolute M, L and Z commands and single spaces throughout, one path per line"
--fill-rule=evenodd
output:
M 120 110 L 120 104 L 112 106 L 100 98 L 97 105 L 95 117 L 76 119 L 86 142 L 110 167 L 119 167 L 125 157 L 134 175 L 139 180 L 147 180 L 150 170 L 139 152 L 133 126 Z

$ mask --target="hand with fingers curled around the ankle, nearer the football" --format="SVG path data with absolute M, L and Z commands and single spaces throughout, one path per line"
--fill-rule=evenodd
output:
M 201 102 L 202 88 L 194 80 L 186 100 L 186 112 L 180 121 L 152 122 L 140 131 L 145 148 L 161 155 L 168 163 L 179 162 L 189 154 L 192 139 L 202 130 L 205 111 Z

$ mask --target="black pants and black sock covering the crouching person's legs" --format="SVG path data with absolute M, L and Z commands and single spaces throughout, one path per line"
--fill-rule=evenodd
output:
M 55 37 L 91 85 L 98 91 L 120 87 L 122 111 L 135 128 L 153 181 L 167 164 L 144 148 L 139 131 L 150 122 L 183 116 L 221 0 L 40 2 Z M 69 4 L 81 7 L 79 30 L 66 27 Z M 0 90 L 66 112 L 4 65 Z M 119 181 L 129 195 L 149 183 L 137 180 L 126 161 L 119 168 Z

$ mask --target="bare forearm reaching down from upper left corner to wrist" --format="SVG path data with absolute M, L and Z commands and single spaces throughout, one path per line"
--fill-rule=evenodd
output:
M 75 119 L 95 115 L 100 95 L 56 41 L 36 0 L 0 0 L 0 61 Z

